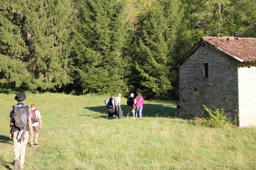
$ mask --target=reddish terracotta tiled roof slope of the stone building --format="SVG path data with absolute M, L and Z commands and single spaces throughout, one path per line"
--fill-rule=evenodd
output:
M 241 37 L 202 37 L 209 44 L 220 51 L 236 58 L 241 62 L 256 62 L 256 38 Z

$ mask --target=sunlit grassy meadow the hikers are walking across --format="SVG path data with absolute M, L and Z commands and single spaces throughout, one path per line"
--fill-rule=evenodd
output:
M 9 109 L 16 93 L 0 94 L 0 169 L 13 169 Z M 256 129 L 195 126 L 179 115 L 177 101 L 145 101 L 143 118 L 107 119 L 104 99 L 94 94 L 26 94 L 43 129 L 40 145 L 27 146 L 26 169 L 256 169 Z

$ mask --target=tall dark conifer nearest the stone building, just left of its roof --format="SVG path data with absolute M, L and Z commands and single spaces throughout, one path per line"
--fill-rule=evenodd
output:
M 164 98 L 172 89 L 174 45 L 180 23 L 180 1 L 154 1 L 139 16 L 133 43 L 134 87 L 147 98 Z

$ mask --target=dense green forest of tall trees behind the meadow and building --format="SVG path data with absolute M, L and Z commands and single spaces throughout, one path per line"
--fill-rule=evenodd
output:
M 2 0 L 0 87 L 175 98 L 203 36 L 256 37 L 256 0 Z

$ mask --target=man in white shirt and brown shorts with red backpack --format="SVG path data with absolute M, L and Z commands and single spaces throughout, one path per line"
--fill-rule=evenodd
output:
M 31 112 L 32 112 L 32 115 L 33 117 L 31 118 L 32 119 L 32 126 L 33 126 L 33 130 L 35 132 L 35 145 L 39 145 L 37 139 L 38 139 L 38 136 L 39 136 L 39 123 L 38 123 L 38 120 L 40 122 L 40 129 L 43 128 L 43 124 L 42 124 L 42 116 L 40 114 L 40 112 L 35 109 L 35 104 L 31 104 Z M 33 133 L 31 131 L 29 131 L 29 134 L 30 133 Z M 33 138 L 30 138 L 30 146 L 32 147 L 33 146 Z

